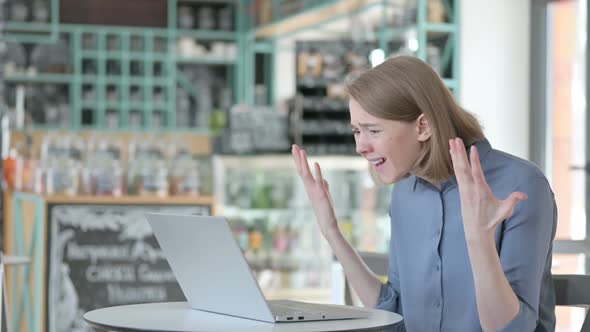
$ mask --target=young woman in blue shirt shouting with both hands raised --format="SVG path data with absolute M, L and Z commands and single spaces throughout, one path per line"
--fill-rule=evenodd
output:
M 356 151 L 392 192 L 388 282 L 344 239 L 329 186 L 292 154 L 320 230 L 365 306 L 407 331 L 553 331 L 557 209 L 543 173 L 495 150 L 439 76 L 396 57 L 348 84 Z

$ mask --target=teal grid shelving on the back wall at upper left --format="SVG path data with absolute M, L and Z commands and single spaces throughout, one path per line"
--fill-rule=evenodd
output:
M 206 0 L 202 3 L 209 3 Z M 178 27 L 177 9 L 183 3 L 194 5 L 198 1 L 168 0 L 168 26 L 166 28 L 136 28 L 121 26 L 97 26 L 56 23 L 7 22 L 9 40 L 29 44 L 64 40 L 69 45 L 68 66 L 61 72 L 13 72 L 5 80 L 10 86 L 39 86 L 41 84 L 65 86 L 68 114 L 62 114 L 60 123 L 42 124 L 42 128 L 70 130 L 176 130 L 194 129 L 207 131 L 208 122 L 186 122 L 186 116 L 177 117 L 177 89 L 191 98 L 191 107 L 201 98 L 198 88 L 180 69 L 181 66 L 217 68 L 216 75 L 223 75 L 233 100 L 241 98 L 238 91 L 242 71 L 237 51 L 234 54 L 183 54 L 179 44 L 198 40 L 203 43 L 234 44 L 240 39 L 238 18 L 232 31 L 212 29 L 181 29 Z M 241 2 L 216 1 L 215 4 L 235 6 L 240 11 Z M 52 0 L 52 8 L 59 5 Z M 58 18 L 57 18 L 58 19 Z M 40 32 L 53 32 L 55 38 L 39 39 Z M 24 34 L 23 32 L 27 32 Z M 28 32 L 35 32 L 28 34 Z M 233 97 L 232 97 L 233 96 Z M 231 104 L 233 101 L 224 101 Z M 211 106 L 220 108 L 220 101 Z M 181 102 L 182 104 L 182 102 Z M 184 102 L 186 104 L 186 102 Z M 14 105 L 10 105 L 14 106 Z M 211 110 L 206 110 L 210 112 Z M 205 111 L 203 111 L 205 112 Z M 192 113 L 191 113 L 192 114 Z M 195 115 L 192 115 L 194 118 Z M 39 125 L 34 123 L 34 125 Z M 35 127 L 35 126 L 33 126 Z

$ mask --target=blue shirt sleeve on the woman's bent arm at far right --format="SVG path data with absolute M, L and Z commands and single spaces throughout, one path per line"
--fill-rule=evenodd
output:
M 512 217 L 504 221 L 500 235 L 500 261 L 504 274 L 520 302 L 516 317 L 500 331 L 534 331 L 539 317 L 540 293 L 545 269 L 550 269 L 551 243 L 555 236 L 557 208 L 547 180 L 534 177 L 516 188 L 528 195 Z

